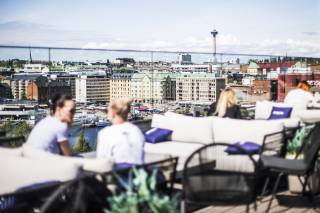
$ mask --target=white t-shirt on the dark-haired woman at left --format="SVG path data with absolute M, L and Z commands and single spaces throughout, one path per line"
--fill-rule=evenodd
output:
M 53 116 L 42 119 L 32 129 L 27 144 L 47 152 L 60 154 L 59 142 L 68 140 L 68 125 Z

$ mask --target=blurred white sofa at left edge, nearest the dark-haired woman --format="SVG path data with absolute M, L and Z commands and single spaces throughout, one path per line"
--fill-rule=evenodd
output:
M 0 148 L 0 164 L 0 194 L 5 194 L 31 184 L 72 180 L 80 169 L 107 172 L 113 163 L 107 159 L 64 157 L 24 144 L 20 148 Z

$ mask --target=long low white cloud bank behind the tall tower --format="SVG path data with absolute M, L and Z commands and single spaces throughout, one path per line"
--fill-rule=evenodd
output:
M 110 48 L 110 49 L 139 49 L 139 50 L 168 50 L 168 51 L 199 51 L 212 52 L 212 37 L 187 37 L 179 41 L 129 41 L 117 39 L 111 42 L 89 42 L 85 48 Z M 320 57 L 320 43 L 302 41 L 288 38 L 265 39 L 261 42 L 241 41 L 234 35 L 217 37 L 217 52 L 247 53 L 270 55 L 294 55 Z

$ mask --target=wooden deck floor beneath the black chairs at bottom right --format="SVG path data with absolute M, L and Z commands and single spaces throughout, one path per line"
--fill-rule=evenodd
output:
M 257 212 L 265 212 L 269 203 L 271 196 L 262 199 L 257 202 Z M 279 202 L 278 202 L 279 201 Z M 246 206 L 209 206 L 201 210 L 196 211 L 195 213 L 244 213 L 246 212 Z M 254 211 L 253 204 L 250 205 L 250 212 Z M 320 212 L 320 202 L 312 203 L 305 197 L 299 195 L 293 195 L 289 192 L 280 194 L 278 199 L 274 199 L 272 202 L 270 213 L 311 213 L 311 212 Z

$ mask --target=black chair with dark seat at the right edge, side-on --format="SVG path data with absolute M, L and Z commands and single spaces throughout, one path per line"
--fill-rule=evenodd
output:
M 272 198 L 270 199 L 267 212 L 270 210 L 273 199 L 276 197 L 276 193 L 279 186 L 279 181 L 284 175 L 296 175 L 298 176 L 300 183 L 302 184 L 302 193 L 305 194 L 306 187 L 309 184 L 309 177 L 314 171 L 314 166 L 320 150 L 320 123 L 317 123 L 312 129 L 311 133 L 305 139 L 303 148 L 301 150 L 302 159 L 295 158 L 284 159 L 277 156 L 261 156 L 262 166 L 271 172 L 277 172 L 278 177 L 272 190 Z M 301 179 L 304 177 L 304 181 Z M 311 193 L 312 195 L 312 193 Z M 312 196 L 311 196 L 312 198 Z

